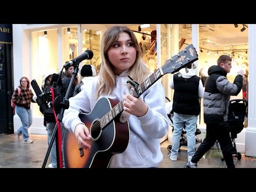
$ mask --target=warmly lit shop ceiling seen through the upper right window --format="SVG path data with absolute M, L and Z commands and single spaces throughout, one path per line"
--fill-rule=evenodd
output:
M 199 24 L 199 47 L 212 51 L 248 49 L 248 29 L 242 24 Z M 191 42 L 191 24 L 179 27 L 180 37 Z

